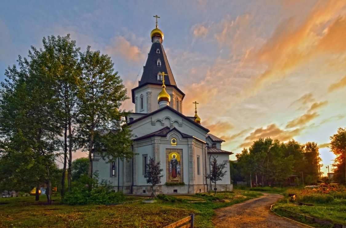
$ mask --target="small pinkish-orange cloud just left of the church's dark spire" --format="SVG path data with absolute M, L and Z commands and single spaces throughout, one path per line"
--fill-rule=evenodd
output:
M 105 52 L 110 55 L 119 55 L 130 61 L 143 61 L 144 54 L 139 47 L 131 45 L 123 36 L 118 36 L 113 40 L 113 44 L 105 48 Z

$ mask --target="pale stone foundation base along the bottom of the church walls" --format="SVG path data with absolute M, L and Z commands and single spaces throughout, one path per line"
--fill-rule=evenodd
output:
M 233 184 L 217 184 L 217 191 L 233 191 Z M 118 191 L 118 187 L 114 187 L 113 190 Z M 199 192 L 214 191 L 214 185 L 210 187 L 207 184 L 193 184 L 193 185 L 177 185 L 177 186 L 166 186 L 158 185 L 154 187 L 155 194 L 193 194 Z M 119 191 L 124 194 L 131 194 L 131 186 L 119 186 Z M 151 186 L 132 186 L 132 194 L 134 195 L 150 195 Z

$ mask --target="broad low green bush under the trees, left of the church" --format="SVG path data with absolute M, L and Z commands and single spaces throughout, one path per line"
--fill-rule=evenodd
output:
M 113 192 L 110 182 L 89 178 L 82 174 L 73 182 L 72 191 L 64 196 L 63 203 L 68 205 L 106 204 L 124 201 L 122 192 Z

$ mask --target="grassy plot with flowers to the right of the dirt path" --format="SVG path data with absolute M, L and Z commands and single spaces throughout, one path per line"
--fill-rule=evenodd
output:
M 290 216 L 280 208 L 290 210 L 303 215 L 331 221 L 346 225 L 346 191 L 343 188 L 325 191 L 325 188 L 317 189 L 288 189 L 285 191 L 285 198 L 280 200 L 274 207 L 274 211 L 282 216 Z M 295 203 L 289 202 L 289 193 L 297 194 Z M 313 206 L 299 206 L 296 202 L 313 204 Z M 308 223 L 303 218 L 294 217 L 303 223 Z M 313 224 L 313 226 L 320 226 Z

